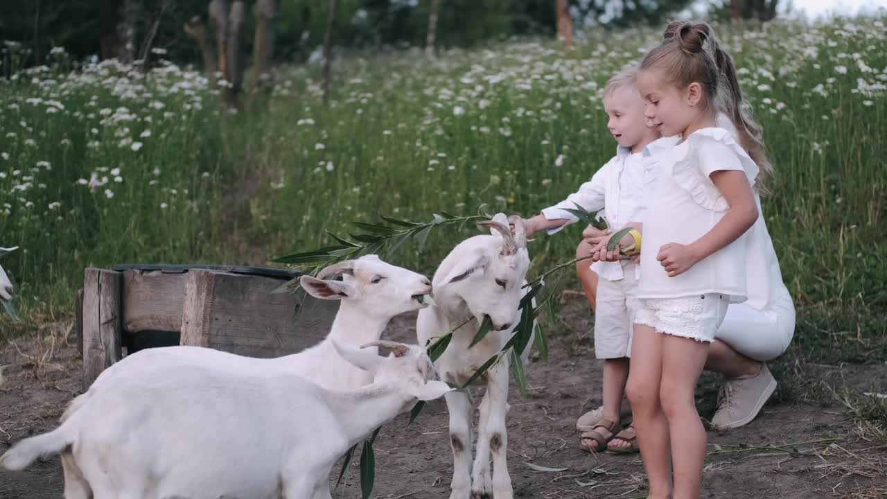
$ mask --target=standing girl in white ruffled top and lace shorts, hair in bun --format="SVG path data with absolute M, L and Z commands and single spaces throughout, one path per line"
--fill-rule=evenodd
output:
M 743 234 L 758 215 L 752 186 L 769 163 L 742 111 L 733 60 L 709 25 L 671 23 L 641 62 L 638 84 L 648 118 L 682 141 L 656 154 L 647 186 L 627 393 L 649 497 L 698 499 L 706 435 L 694 388 L 727 305 L 747 299 Z M 716 126 L 718 108 L 742 145 Z

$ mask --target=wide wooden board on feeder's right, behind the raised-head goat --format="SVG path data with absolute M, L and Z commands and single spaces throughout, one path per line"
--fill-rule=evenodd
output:
M 250 357 L 300 352 L 326 337 L 339 302 L 304 291 L 275 294 L 282 281 L 255 275 L 189 272 L 182 317 L 182 344 Z M 301 304 L 301 305 L 300 305 Z M 294 311 L 301 306 L 298 320 Z

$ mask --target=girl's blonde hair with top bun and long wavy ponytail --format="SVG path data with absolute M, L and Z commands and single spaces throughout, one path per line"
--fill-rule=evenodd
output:
M 665 28 L 663 43 L 649 51 L 640 63 L 641 70 L 663 68 L 661 73 L 680 88 L 690 83 L 703 87 L 705 104 L 722 111 L 733 122 L 739 143 L 757 163 L 760 173 L 757 188 L 766 192 L 764 180 L 773 175 L 767 159 L 764 133 L 742 101 L 742 88 L 730 54 L 723 51 L 707 23 L 673 21 Z

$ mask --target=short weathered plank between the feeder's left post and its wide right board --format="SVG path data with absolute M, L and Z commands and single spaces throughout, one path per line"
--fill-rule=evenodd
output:
M 125 270 L 122 289 L 123 330 L 178 331 L 187 273 Z

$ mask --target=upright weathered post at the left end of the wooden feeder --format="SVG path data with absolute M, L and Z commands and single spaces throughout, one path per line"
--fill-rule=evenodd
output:
M 121 359 L 119 272 L 89 267 L 83 278 L 83 391 Z

